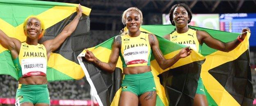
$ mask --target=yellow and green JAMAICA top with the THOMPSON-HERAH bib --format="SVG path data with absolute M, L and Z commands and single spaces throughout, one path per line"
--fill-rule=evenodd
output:
M 120 57 L 123 67 L 150 66 L 149 33 L 141 32 L 137 37 L 131 37 L 126 33 L 121 35 L 121 41 Z

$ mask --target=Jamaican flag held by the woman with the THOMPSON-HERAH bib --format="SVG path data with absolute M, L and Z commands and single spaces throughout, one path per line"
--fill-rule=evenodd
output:
M 140 30 L 151 33 L 150 30 L 147 30 L 144 27 L 145 26 L 142 26 Z M 165 58 L 167 59 L 174 57 L 183 47 L 185 47 L 181 44 L 169 42 L 168 40 L 158 35 L 156 36 L 158 38 L 158 41 L 160 42 L 159 43 L 160 49 L 164 54 Z M 98 46 L 89 48 L 89 50 L 92 51 L 99 60 L 103 62 L 108 62 L 109 55 L 111 53 L 111 44 L 113 40 L 114 38 L 111 38 L 99 44 Z M 113 73 L 107 73 L 106 71 L 102 71 L 100 68 L 94 66 L 93 64 L 86 62 L 85 60 L 83 61 L 83 58 L 82 58 L 83 55 L 85 55 L 85 51 L 83 51 L 78 56 L 78 60 L 80 60 L 80 65 L 85 71 L 87 81 L 89 82 L 98 103 L 102 106 L 110 106 L 110 105 L 117 106 L 119 102 L 119 95 L 121 93 L 121 79 L 122 79 L 121 59 L 119 58 L 115 71 Z M 197 89 L 197 81 L 199 79 L 199 75 L 201 71 L 201 64 L 204 62 L 204 60 L 205 58 L 202 55 L 200 55 L 195 51 L 192 51 L 190 56 L 179 60 L 176 64 L 174 64 L 170 68 L 166 70 L 162 70 L 158 65 L 158 63 L 156 62 L 154 56 L 151 55 L 151 69 L 152 69 L 152 73 L 153 73 L 153 77 L 154 77 L 154 81 L 157 89 L 156 106 L 167 106 L 169 104 L 168 102 L 169 97 L 166 97 L 165 88 L 164 86 L 162 86 L 162 84 L 160 84 L 160 79 L 158 75 L 170 69 L 174 69 L 174 70 L 180 69 L 180 71 L 175 71 L 175 73 L 182 74 L 182 76 L 180 77 L 182 77 L 181 82 L 184 83 L 184 86 L 173 85 L 174 87 L 171 86 L 171 88 L 176 90 L 181 90 L 181 92 L 184 92 L 184 94 L 182 95 L 185 98 L 193 99 L 195 95 L 195 91 Z M 178 80 L 180 79 L 180 77 L 175 77 L 171 79 Z M 180 100 L 177 100 L 176 102 L 178 101 Z

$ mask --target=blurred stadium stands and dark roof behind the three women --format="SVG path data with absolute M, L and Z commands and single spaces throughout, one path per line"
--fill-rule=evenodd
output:
M 129 7 L 138 7 L 144 15 L 144 24 L 162 24 L 162 14 L 168 13 L 171 6 L 185 3 L 193 13 L 256 13 L 256 0 L 46 0 L 53 2 L 80 3 L 91 8 L 89 47 L 117 35 L 124 27 L 121 13 Z M 255 25 L 255 23 L 254 23 Z M 251 29 L 252 30 L 252 29 Z M 255 30 L 255 29 L 254 29 Z M 256 32 L 251 32 L 251 37 Z M 254 41 L 255 42 L 255 41 Z M 256 97 L 256 46 L 250 46 L 250 62 L 254 97 Z M 9 75 L 0 75 L 0 103 L 3 98 L 15 98 L 17 81 Z M 89 103 L 90 86 L 85 78 L 76 81 L 49 82 L 48 89 L 52 100 L 66 100 L 63 104 L 84 105 Z M 68 101 L 71 100 L 71 101 Z M 72 100 L 82 100 L 75 101 Z M 85 100 L 85 101 L 83 101 Z M 80 103 L 79 103 L 80 102 Z M 82 103 L 83 102 L 83 103 Z M 6 104 L 0 104 L 6 105 Z M 10 104 L 10 106 L 12 106 Z

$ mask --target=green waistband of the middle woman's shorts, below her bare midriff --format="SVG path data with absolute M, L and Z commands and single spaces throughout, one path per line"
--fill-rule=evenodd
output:
M 124 79 L 130 79 L 130 80 L 139 80 L 139 79 L 146 79 L 153 77 L 153 74 L 151 71 L 146 73 L 139 73 L 139 74 L 125 74 Z

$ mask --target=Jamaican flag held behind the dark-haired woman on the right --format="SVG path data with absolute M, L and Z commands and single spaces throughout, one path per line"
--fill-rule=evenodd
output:
M 171 33 L 171 29 L 174 30 L 175 27 L 172 25 L 148 25 L 143 26 L 143 28 L 162 36 Z M 233 41 L 239 35 L 239 33 L 203 29 L 200 27 L 192 28 L 204 30 L 212 35 L 213 38 L 222 42 Z M 228 53 L 212 49 L 206 44 L 202 45 L 201 54 L 206 60 L 201 67 L 201 78 L 205 86 L 209 106 L 252 105 L 253 89 L 249 66 L 249 37 L 250 33 L 247 33 L 245 40 Z M 174 102 L 171 102 L 171 104 L 174 106 L 179 105 Z

